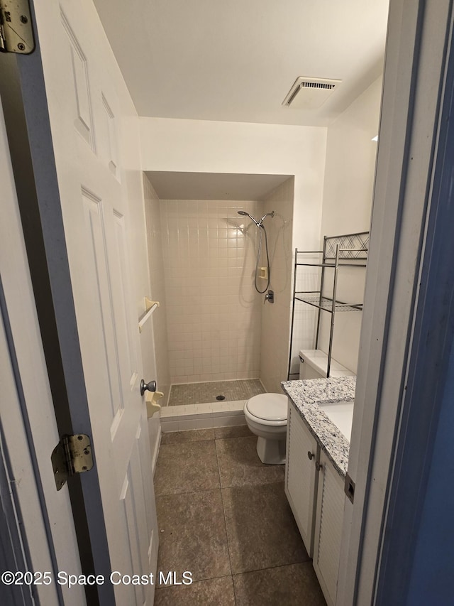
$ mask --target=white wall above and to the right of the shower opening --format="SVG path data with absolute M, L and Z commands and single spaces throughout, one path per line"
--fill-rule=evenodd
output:
M 144 171 L 294 175 L 293 245 L 319 245 L 325 128 L 144 117 L 139 124 Z

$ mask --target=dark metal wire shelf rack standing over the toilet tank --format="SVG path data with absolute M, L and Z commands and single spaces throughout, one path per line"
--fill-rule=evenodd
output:
M 290 332 L 290 352 L 289 352 L 289 372 L 288 379 L 290 379 L 290 370 L 292 364 L 292 345 L 293 345 L 293 329 L 294 329 L 294 317 L 295 317 L 295 303 L 300 301 L 307 305 L 312 305 L 319 310 L 317 317 L 317 330 L 315 349 L 319 347 L 319 335 L 320 335 L 320 320 L 321 312 L 326 311 L 331 313 L 331 326 L 329 332 L 329 344 L 328 344 L 328 366 L 326 369 L 326 377 L 329 377 L 331 368 L 331 351 L 333 349 L 333 333 L 334 333 L 334 319 L 338 312 L 351 312 L 361 311 L 362 303 L 344 303 L 338 301 L 336 298 L 338 288 L 338 272 L 342 267 L 365 267 L 367 261 L 367 251 L 369 247 L 369 232 L 358 232 L 356 234 L 343 234 L 341 236 L 325 236 L 323 237 L 323 250 L 298 250 L 295 249 L 295 263 L 294 263 L 294 276 L 293 276 L 293 304 L 292 304 L 292 323 Z M 321 254 L 321 263 L 304 263 L 300 261 L 302 254 Z M 297 291 L 297 272 L 300 266 L 306 267 L 320 267 L 321 278 L 320 278 L 320 289 L 318 291 Z M 332 269 L 333 275 L 333 290 L 332 296 L 323 295 L 323 283 L 325 280 L 326 269 Z M 331 294 L 331 292 L 330 292 Z

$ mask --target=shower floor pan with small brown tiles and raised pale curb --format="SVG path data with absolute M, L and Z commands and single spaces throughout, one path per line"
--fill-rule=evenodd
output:
M 172 385 L 169 405 L 160 411 L 161 430 L 245 425 L 245 401 L 263 393 L 259 379 Z M 216 396 L 225 399 L 216 400 Z

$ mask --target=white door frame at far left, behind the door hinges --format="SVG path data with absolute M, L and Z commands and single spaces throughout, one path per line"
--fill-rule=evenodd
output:
M 64 602 L 68 606 L 81 606 L 85 603 L 82 586 L 70 589 L 56 583 L 58 570 L 78 575 L 81 565 L 67 487 L 57 492 L 50 463 L 50 455 L 60 438 L 1 103 L 0 183 L 0 450 L 8 475 L 11 508 L 21 536 L 17 548 L 19 555 L 23 554 L 18 560 L 22 560 L 19 568 L 17 563 L 10 563 L 9 570 L 43 573 L 35 575 L 34 586 L 28 585 L 30 579 L 16 576 L 23 583 L 16 590 L 38 597 L 41 604 L 53 606 Z M 44 575 L 45 572 L 48 574 Z M 0 585 L 0 596 L 4 595 L 4 589 Z

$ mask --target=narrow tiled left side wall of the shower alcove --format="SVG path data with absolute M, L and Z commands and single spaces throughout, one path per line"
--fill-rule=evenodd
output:
M 143 177 L 143 189 L 150 267 L 150 296 L 153 301 L 160 302 L 160 307 L 153 312 L 151 317 L 155 343 L 156 377 L 150 377 L 150 379 L 156 379 L 157 389 L 165 395 L 163 404 L 167 404 L 170 393 L 170 372 L 167 355 L 167 304 L 165 300 L 164 266 L 162 264 L 160 202 L 153 186 L 145 175 Z

